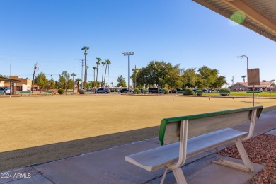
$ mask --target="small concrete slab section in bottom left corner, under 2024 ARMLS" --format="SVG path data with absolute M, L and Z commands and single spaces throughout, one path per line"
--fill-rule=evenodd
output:
M 0 183 L 52 183 L 32 167 L 19 168 L 0 173 Z

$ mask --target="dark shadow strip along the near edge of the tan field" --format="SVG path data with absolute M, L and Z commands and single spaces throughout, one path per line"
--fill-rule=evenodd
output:
M 157 137 L 159 126 L 0 153 L 0 171 L 45 163 Z

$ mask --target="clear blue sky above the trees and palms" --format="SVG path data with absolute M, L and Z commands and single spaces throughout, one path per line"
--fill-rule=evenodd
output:
M 110 59 L 109 81 L 117 84 L 122 74 L 127 81 L 130 70 L 146 67 L 152 60 L 181 64 L 184 69 L 207 65 L 227 74 L 231 84 L 246 75 L 249 68 L 260 68 L 260 80 L 276 79 L 276 44 L 241 25 L 190 0 L 1 0 L 0 74 L 33 76 L 39 72 L 57 80 L 62 71 L 81 78 L 88 50 L 88 81 L 93 80 L 96 57 Z M 101 79 L 101 66 L 99 76 Z

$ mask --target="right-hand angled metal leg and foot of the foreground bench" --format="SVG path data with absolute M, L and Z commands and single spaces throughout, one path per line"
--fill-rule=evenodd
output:
M 254 171 L 254 168 L 251 164 L 251 161 L 248 158 L 248 155 L 246 154 L 246 150 L 244 149 L 240 139 L 236 141 L 236 147 L 238 149 L 239 154 L 241 155 L 241 159 L 243 160 L 244 164 L 236 163 L 234 161 L 226 161 L 225 159 L 220 159 L 219 161 L 212 161 L 212 163 L 217 163 L 222 166 L 236 168 L 241 171 L 252 173 Z

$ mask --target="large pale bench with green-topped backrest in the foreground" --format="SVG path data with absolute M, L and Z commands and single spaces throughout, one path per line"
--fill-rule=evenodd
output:
M 255 106 L 164 118 L 159 127 L 161 146 L 125 156 L 125 160 L 146 171 L 156 171 L 165 167 L 161 183 L 163 183 L 168 169 L 173 171 L 177 183 L 186 183 L 181 170 L 186 158 L 210 149 L 217 150 L 218 146 L 235 143 L 243 164 L 222 158 L 212 162 L 252 173 L 253 166 L 241 141 L 253 136 L 255 120 L 260 117 L 262 110 L 263 106 Z M 250 122 L 248 131 L 241 132 L 232 128 L 247 122 Z

